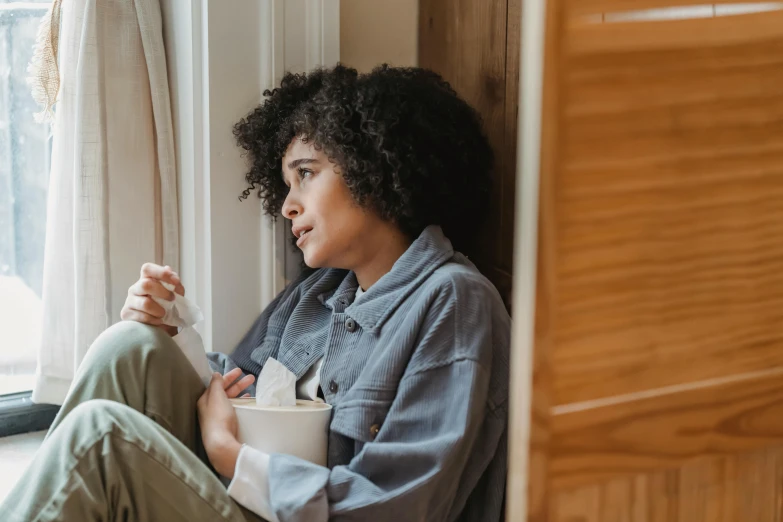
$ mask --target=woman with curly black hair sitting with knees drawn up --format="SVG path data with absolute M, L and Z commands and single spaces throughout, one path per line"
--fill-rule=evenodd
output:
M 235 129 L 243 197 L 291 221 L 309 270 L 210 354 L 204 391 L 151 299 L 181 282 L 145 265 L 2 520 L 501 517 L 509 317 L 447 239 L 469 246 L 488 207 L 477 114 L 422 69 L 289 74 L 265 95 Z M 237 442 L 228 399 L 269 357 L 333 406 L 328 467 Z

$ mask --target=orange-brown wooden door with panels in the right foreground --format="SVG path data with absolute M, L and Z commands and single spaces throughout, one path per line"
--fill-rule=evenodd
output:
M 783 11 L 686 3 L 548 1 L 510 520 L 783 520 Z

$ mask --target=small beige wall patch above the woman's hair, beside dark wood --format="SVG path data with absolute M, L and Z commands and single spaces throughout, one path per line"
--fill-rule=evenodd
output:
M 418 0 L 342 0 L 340 61 L 360 71 L 418 63 Z

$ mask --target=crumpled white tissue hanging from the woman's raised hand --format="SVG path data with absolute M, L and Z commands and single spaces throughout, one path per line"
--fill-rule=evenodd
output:
M 174 291 L 174 285 L 161 281 L 161 284 L 171 292 Z M 153 297 L 160 306 L 166 310 L 163 316 L 163 324 L 176 326 L 180 328 L 177 334 L 177 344 L 182 349 L 182 353 L 193 365 L 204 386 L 209 386 L 212 380 L 212 370 L 207 362 L 207 352 L 204 349 L 204 340 L 201 335 L 193 328 L 193 325 L 204 320 L 204 314 L 195 303 L 189 301 L 184 296 L 174 294 L 173 301 L 167 301 L 159 297 Z

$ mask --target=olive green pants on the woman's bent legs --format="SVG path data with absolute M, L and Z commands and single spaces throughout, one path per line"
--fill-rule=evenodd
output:
M 207 461 L 196 413 L 203 391 L 167 334 L 112 326 L 88 351 L 0 520 L 261 520 L 228 496 Z

